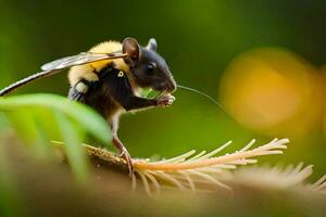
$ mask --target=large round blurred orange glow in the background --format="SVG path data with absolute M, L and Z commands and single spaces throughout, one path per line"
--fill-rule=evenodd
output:
M 221 80 L 221 99 L 244 127 L 266 135 L 302 135 L 319 126 L 322 86 L 311 64 L 279 48 L 236 58 Z

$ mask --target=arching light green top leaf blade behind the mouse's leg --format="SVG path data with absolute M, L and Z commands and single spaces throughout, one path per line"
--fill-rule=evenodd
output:
M 108 123 L 84 104 L 72 102 L 64 97 L 48 93 L 0 98 L 0 110 L 3 112 L 26 107 L 48 107 L 53 111 L 60 111 L 76 120 L 82 128 L 101 140 L 104 144 L 109 144 L 111 141 L 112 135 Z

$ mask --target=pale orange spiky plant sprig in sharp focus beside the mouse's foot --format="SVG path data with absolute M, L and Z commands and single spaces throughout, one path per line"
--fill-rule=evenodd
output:
M 216 156 L 216 154 L 229 146 L 231 141 L 209 153 L 202 151 L 196 154 L 197 152 L 192 150 L 158 162 L 135 159 L 134 168 L 149 195 L 160 192 L 161 187 L 176 187 L 191 191 L 224 189 L 231 192 L 231 188 L 220 178 L 223 177 L 221 176 L 223 173 L 235 169 L 238 165 L 256 163 L 258 161 L 252 157 L 281 154 L 283 150 L 287 149 L 286 144 L 289 140 L 274 139 L 267 144 L 251 149 L 254 142 L 255 140 L 252 140 L 240 151 L 222 156 Z M 291 170 L 291 173 L 298 173 L 297 170 Z

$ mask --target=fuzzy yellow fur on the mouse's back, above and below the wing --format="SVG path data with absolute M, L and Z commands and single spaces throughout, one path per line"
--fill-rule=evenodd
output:
M 89 52 L 112 53 L 121 50 L 122 50 L 122 44 L 120 42 L 105 41 L 92 47 L 89 50 Z M 99 78 L 96 73 L 100 72 L 103 67 L 105 67 L 108 64 L 112 62 L 115 64 L 115 67 L 117 69 L 123 71 L 125 73 L 129 73 L 128 65 L 122 59 L 98 61 L 98 62 L 72 67 L 68 73 L 68 79 L 71 86 L 72 87 L 75 86 L 83 78 L 90 81 L 98 80 Z

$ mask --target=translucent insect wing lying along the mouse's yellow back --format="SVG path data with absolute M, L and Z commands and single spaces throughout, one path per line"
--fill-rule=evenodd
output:
M 75 65 L 83 65 L 91 62 L 102 61 L 102 60 L 111 60 L 111 59 L 120 59 L 124 58 L 126 54 L 120 52 L 113 53 L 90 53 L 83 52 L 77 55 L 71 55 L 66 58 L 62 58 L 50 63 L 47 63 L 41 66 L 42 71 L 58 71 L 64 69 L 67 67 L 72 67 Z

